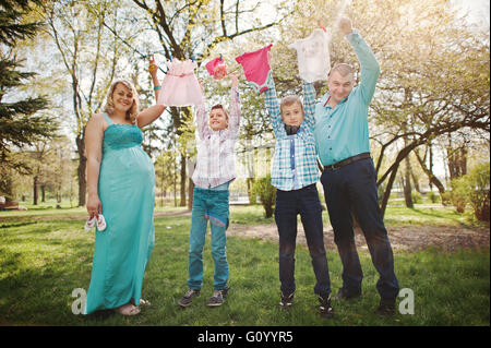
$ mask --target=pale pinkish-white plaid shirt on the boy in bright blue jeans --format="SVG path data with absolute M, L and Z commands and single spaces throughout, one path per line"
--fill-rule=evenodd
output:
M 236 173 L 235 146 L 239 137 L 240 100 L 237 88 L 230 89 L 228 128 L 213 131 L 208 125 L 206 107 L 196 110 L 199 147 L 192 180 L 201 189 L 211 189 L 233 180 Z

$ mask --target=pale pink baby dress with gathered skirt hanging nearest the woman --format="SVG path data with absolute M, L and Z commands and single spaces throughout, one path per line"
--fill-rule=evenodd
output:
M 167 73 L 161 82 L 157 104 L 166 106 L 191 106 L 203 103 L 203 93 L 194 75 L 196 62 L 172 59 L 167 62 Z

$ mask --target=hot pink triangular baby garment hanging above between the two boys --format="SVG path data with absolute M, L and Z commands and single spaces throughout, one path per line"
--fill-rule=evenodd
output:
M 273 84 L 273 75 L 267 55 L 273 45 L 268 45 L 253 52 L 243 53 L 236 58 L 242 65 L 246 80 L 255 92 L 263 92 Z

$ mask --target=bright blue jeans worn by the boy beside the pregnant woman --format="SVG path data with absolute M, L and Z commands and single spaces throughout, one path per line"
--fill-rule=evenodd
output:
M 189 236 L 190 289 L 199 290 L 203 285 L 203 248 L 208 219 L 212 229 L 212 256 L 215 262 L 214 289 L 224 290 L 228 281 L 226 230 L 229 219 L 229 191 L 194 188 L 191 231 Z

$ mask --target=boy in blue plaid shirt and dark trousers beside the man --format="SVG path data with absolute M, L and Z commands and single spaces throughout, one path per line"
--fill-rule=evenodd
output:
M 322 207 L 315 187 L 319 180 L 313 137 L 315 89 L 303 81 L 303 105 L 298 96 L 278 103 L 274 83 L 265 91 L 265 104 L 276 137 L 272 184 L 276 188 L 275 221 L 279 233 L 279 280 L 282 300 L 288 308 L 295 293 L 295 247 L 300 214 L 316 278 L 320 314 L 333 315 L 331 281 L 324 249 Z

